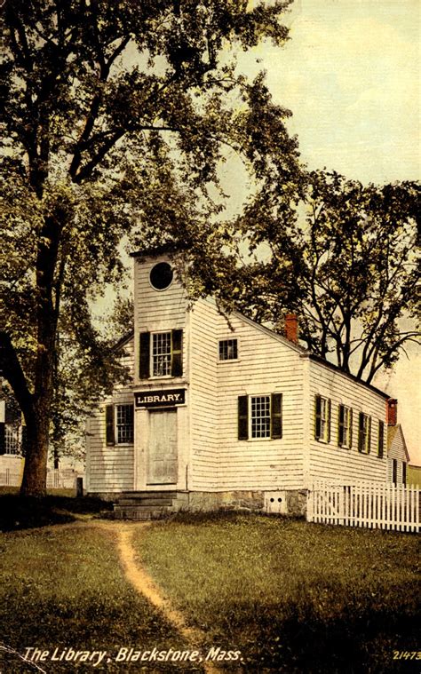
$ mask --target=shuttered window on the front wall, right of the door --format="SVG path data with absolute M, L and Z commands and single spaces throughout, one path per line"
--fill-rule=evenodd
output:
M 282 393 L 238 397 L 238 440 L 282 438 Z

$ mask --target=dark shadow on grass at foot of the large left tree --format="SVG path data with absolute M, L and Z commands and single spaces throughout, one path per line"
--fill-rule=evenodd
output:
M 65 524 L 81 516 L 100 515 L 112 504 L 99 498 L 83 496 L 19 496 L 0 494 L 0 531 L 15 531 L 52 524 Z

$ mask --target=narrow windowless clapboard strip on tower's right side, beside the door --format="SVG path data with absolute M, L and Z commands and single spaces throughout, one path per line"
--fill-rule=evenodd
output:
M 190 433 L 193 489 L 218 489 L 217 319 L 213 306 L 190 313 Z

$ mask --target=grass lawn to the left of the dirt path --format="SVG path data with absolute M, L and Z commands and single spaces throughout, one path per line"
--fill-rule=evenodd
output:
M 3 534 L 0 539 L 0 641 L 23 654 L 26 647 L 50 651 L 107 650 L 92 663 L 38 662 L 49 673 L 73 671 L 174 670 L 139 662 L 115 662 L 120 647 L 186 648 L 171 625 L 131 588 L 119 566 L 114 535 L 94 527 L 54 527 Z M 50 657 L 49 656 L 49 657 Z M 104 663 L 105 662 L 105 663 Z M 4 674 L 35 672 L 17 655 L 2 654 Z M 194 671 L 191 665 L 190 671 Z M 196 669 L 197 671 L 197 669 Z

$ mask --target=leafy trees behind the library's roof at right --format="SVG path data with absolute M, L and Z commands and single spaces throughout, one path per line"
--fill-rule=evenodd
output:
M 314 353 L 370 382 L 419 337 L 419 196 L 417 183 L 362 186 L 335 171 L 309 174 L 295 211 L 257 194 L 237 226 L 266 259 L 238 270 L 236 304 L 275 329 L 298 313 Z

